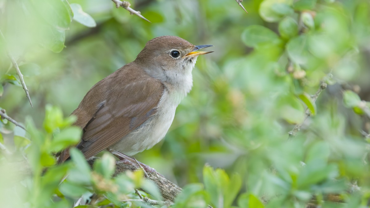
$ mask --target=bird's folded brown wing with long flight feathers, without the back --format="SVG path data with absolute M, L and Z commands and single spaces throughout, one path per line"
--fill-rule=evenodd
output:
M 124 89 L 126 93 L 111 94 L 84 127 L 81 142 L 77 145 L 85 158 L 105 150 L 144 123 L 155 113 L 163 93 L 159 81 L 133 82 Z M 141 93 L 141 92 L 145 93 Z

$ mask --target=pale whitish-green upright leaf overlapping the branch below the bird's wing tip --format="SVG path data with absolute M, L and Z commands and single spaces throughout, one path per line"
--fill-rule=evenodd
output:
M 94 171 L 102 175 L 105 179 L 111 178 L 114 170 L 115 160 L 109 153 L 104 153 L 100 160 L 94 162 Z

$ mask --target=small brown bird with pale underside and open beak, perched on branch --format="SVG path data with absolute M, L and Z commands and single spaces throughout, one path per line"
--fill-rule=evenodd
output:
M 73 111 L 74 125 L 83 129 L 77 148 L 85 158 L 108 149 L 125 155 L 152 148 L 162 140 L 175 110 L 193 85 L 197 51 L 176 36 L 154 38 L 137 58 L 95 84 Z M 61 152 L 58 163 L 70 157 Z

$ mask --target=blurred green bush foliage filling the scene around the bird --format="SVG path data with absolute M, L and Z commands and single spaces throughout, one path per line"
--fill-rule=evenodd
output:
M 88 89 L 161 35 L 215 46 L 165 140 L 135 156 L 183 187 L 171 207 L 368 206 L 369 1 L 131 3 L 152 23 L 110 0 L 0 0 L 0 106 L 27 130 L 1 117 L 1 207 L 162 207 L 124 201 L 163 199 L 142 171 L 112 177 L 108 152 L 55 165 Z

